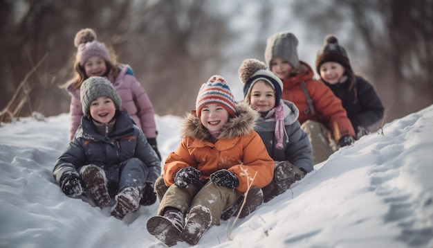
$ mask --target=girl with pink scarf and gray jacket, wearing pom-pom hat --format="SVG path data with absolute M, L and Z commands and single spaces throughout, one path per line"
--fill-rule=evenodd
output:
M 260 114 L 255 131 L 275 160 L 273 181 L 263 188 L 264 202 L 268 202 L 313 170 L 311 143 L 297 121 L 300 112 L 295 104 L 282 100 L 282 80 L 264 62 L 243 60 L 239 79 L 245 102 Z

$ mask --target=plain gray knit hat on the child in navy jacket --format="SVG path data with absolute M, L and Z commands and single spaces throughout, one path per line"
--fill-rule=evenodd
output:
M 84 80 L 80 87 L 80 98 L 84 116 L 90 116 L 91 103 L 101 96 L 111 98 L 114 105 L 116 105 L 116 109 L 120 109 L 122 106 L 122 99 L 109 80 L 102 77 L 90 77 Z

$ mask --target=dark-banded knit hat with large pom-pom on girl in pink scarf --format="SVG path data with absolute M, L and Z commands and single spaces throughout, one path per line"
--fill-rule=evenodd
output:
M 273 87 L 275 91 L 275 105 L 282 98 L 283 82 L 272 71 L 266 69 L 266 64 L 256 59 L 243 60 L 238 69 L 239 80 L 243 85 L 243 97 L 246 97 L 252 86 L 259 80 L 264 80 Z

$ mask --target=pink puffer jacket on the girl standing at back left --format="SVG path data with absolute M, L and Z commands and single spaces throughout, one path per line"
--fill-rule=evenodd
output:
M 122 109 L 136 122 L 137 126 L 142 129 L 147 139 L 156 138 L 156 123 L 154 106 L 151 104 L 149 96 L 138 80 L 131 74 L 132 71 L 127 65 L 120 64 L 120 72 L 116 80 L 109 78 L 117 89 L 120 98 L 122 98 Z M 71 115 L 71 127 L 69 129 L 69 140 L 73 139 L 75 131 L 80 126 L 83 116 L 82 105 L 80 102 L 80 89 L 75 89 L 73 85 L 67 87 L 71 94 L 71 106 L 69 114 Z

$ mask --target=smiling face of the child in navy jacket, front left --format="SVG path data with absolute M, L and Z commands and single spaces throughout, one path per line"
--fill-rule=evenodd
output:
M 107 96 L 101 96 L 90 104 L 90 115 L 100 123 L 109 123 L 116 114 L 116 105 Z

